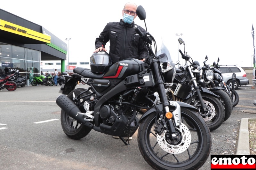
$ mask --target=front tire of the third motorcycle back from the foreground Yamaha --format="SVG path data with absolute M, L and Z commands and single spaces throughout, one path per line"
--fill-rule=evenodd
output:
M 228 120 L 233 110 L 232 100 L 229 94 L 226 93 L 227 91 L 225 92 L 224 90 L 215 90 L 212 92 L 218 96 L 218 99 L 220 100 L 222 106 L 224 107 L 225 116 L 223 122 L 225 122 L 226 120 Z

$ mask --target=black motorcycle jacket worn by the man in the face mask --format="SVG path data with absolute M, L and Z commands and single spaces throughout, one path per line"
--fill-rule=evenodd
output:
M 116 63 L 125 58 L 147 58 L 147 48 L 140 39 L 138 33 L 133 26 L 136 25 L 124 23 L 122 19 L 119 22 L 110 22 L 100 33 L 99 38 L 96 38 L 95 48 L 104 47 L 109 41 L 109 55 L 112 63 Z M 138 25 L 137 25 L 138 26 Z M 138 26 L 142 32 L 145 31 Z

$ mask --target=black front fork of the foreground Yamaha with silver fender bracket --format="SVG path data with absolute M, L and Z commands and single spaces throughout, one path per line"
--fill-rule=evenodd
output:
M 169 104 L 169 101 L 167 99 L 166 92 L 164 89 L 164 81 L 163 81 L 162 77 L 160 76 L 160 71 L 158 69 L 158 61 L 156 59 L 152 60 L 152 65 L 153 65 L 153 69 L 154 69 L 155 76 L 156 76 L 156 81 L 157 81 L 156 84 L 159 89 L 159 96 L 163 103 L 165 113 L 168 113 L 168 112 L 170 112 L 170 110 L 169 110 L 170 104 Z M 178 126 L 181 124 L 180 105 L 178 103 L 172 101 L 171 106 L 175 106 L 176 109 L 172 112 L 172 118 L 168 119 L 167 124 L 165 123 L 162 114 L 160 114 L 160 119 L 162 119 L 161 121 L 164 123 L 164 128 L 168 128 L 170 135 L 171 135 L 170 138 L 176 139 L 177 136 L 176 136 L 175 126 Z M 175 124 L 173 123 L 172 119 L 174 119 Z

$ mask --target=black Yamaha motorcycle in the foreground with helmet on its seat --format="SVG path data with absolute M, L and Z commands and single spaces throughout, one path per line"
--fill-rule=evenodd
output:
M 145 21 L 142 6 L 136 13 Z M 91 57 L 91 70 L 77 67 L 71 76 L 64 76 L 62 95 L 56 100 L 62 129 L 72 139 L 83 138 L 93 129 L 118 136 L 128 145 L 124 137 L 131 137 L 139 128 L 140 152 L 150 166 L 198 169 L 210 154 L 209 128 L 195 107 L 168 101 L 164 82 L 172 83 L 176 72 L 168 49 L 162 46 L 156 56 L 151 48 L 156 43 L 153 36 L 137 26 L 134 29 L 148 48 L 146 62 L 130 58 L 110 66 L 107 53 L 99 51 Z M 77 81 L 89 88 L 75 89 Z M 159 93 L 161 103 L 154 102 L 154 92 Z M 139 109 L 147 110 L 140 120 Z

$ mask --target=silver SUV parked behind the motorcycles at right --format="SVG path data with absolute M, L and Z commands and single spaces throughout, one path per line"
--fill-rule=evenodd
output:
M 220 66 L 221 75 L 223 77 L 224 82 L 232 87 L 232 75 L 236 74 L 236 80 L 234 84 L 234 89 L 237 89 L 238 86 L 248 85 L 249 80 L 246 77 L 245 71 L 236 65 L 221 65 Z

